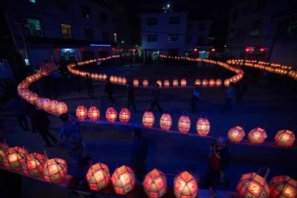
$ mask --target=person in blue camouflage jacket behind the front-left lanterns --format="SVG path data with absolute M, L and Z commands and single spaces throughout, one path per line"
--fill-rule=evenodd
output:
M 80 165 L 83 155 L 83 140 L 79 132 L 79 123 L 69 119 L 67 113 L 62 113 L 59 118 L 64 122 L 59 134 L 59 148 L 66 147 L 76 165 Z

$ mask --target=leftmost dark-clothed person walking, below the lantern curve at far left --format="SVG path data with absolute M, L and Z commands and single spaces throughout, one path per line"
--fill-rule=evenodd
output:
M 21 101 L 21 97 L 11 99 L 4 107 L 10 107 L 20 127 L 24 131 L 29 131 L 28 122 L 26 119 L 26 104 Z

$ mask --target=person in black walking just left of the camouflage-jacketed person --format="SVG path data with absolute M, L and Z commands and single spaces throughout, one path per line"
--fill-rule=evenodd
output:
M 49 133 L 50 121 L 45 111 L 35 109 L 31 119 L 32 119 L 32 132 L 35 134 L 36 130 L 38 130 L 41 137 L 47 143 L 45 147 L 51 147 L 48 136 L 54 142 L 54 144 L 58 143 L 58 141 L 54 138 L 54 136 L 51 133 Z

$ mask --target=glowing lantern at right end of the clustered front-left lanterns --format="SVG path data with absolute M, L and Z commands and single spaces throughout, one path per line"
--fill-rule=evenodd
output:
M 49 159 L 47 152 L 49 151 L 45 150 L 46 160 L 43 172 L 44 178 L 49 183 L 59 183 L 63 181 L 67 175 L 66 161 L 59 158 Z

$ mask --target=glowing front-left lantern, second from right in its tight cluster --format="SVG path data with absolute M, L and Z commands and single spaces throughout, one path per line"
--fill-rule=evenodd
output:
M 30 150 L 30 148 L 28 148 Z M 39 154 L 37 152 L 27 154 L 25 162 L 23 163 L 22 169 L 25 175 L 28 177 L 36 177 L 43 174 L 45 165 L 45 155 Z

